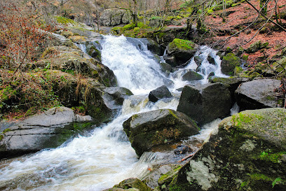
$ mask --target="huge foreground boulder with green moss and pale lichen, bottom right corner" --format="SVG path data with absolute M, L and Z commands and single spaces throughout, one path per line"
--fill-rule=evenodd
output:
M 284 108 L 224 119 L 167 190 L 285 190 L 285 119 Z

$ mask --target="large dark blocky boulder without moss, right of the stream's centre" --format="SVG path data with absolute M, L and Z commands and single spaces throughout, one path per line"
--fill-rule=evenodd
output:
M 193 87 L 185 85 L 177 111 L 204 125 L 217 118 L 225 118 L 231 109 L 231 92 L 222 83 Z

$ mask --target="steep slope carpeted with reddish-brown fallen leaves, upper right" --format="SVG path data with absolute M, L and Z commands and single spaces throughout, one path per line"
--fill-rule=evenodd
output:
M 259 9 L 259 1 L 250 1 L 257 9 Z M 274 4 L 268 5 L 267 17 L 275 15 Z M 286 0 L 279 0 L 278 7 L 280 13 L 286 11 Z M 261 41 L 262 43 L 268 42 L 268 48 L 266 50 L 257 51 L 248 55 L 247 62 L 252 66 L 261 61 L 261 58 L 268 57 L 269 59 L 274 55 L 278 55 L 280 51 L 286 47 L 286 31 L 282 31 L 272 24 L 266 22 L 264 17 L 259 16 L 259 13 L 250 6 L 250 4 L 244 2 L 238 6 L 226 9 L 225 22 L 219 15 L 223 13 L 223 10 L 215 11 L 212 15 L 208 15 L 205 18 L 205 25 L 207 29 L 214 35 L 211 38 L 207 38 L 208 43 L 219 43 L 223 46 L 237 50 L 239 47 L 248 48 L 250 44 Z M 280 19 L 282 27 L 286 28 L 286 20 Z M 254 20 L 257 19 L 257 22 Z M 271 17 L 274 20 L 274 16 Z M 253 24 L 251 24 L 254 22 Z M 274 21 L 275 22 L 275 21 Z M 238 31 L 241 31 L 238 33 Z M 236 34 L 232 36 L 233 34 Z

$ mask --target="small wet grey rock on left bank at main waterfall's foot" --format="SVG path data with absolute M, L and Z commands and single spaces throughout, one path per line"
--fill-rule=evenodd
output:
M 109 108 L 119 108 L 124 99 L 127 99 L 133 93 L 125 87 L 107 87 L 104 88 L 102 98 Z M 118 107 L 119 106 L 119 107 Z

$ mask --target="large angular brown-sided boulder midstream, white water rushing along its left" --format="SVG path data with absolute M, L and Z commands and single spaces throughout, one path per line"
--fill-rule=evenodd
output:
M 123 129 L 128 136 L 132 148 L 141 156 L 152 147 L 164 143 L 180 141 L 193 134 L 199 128 L 184 113 L 171 109 L 160 109 L 132 115 L 123 122 Z

